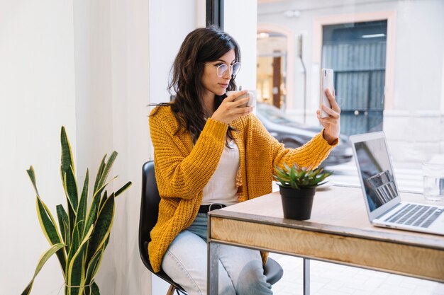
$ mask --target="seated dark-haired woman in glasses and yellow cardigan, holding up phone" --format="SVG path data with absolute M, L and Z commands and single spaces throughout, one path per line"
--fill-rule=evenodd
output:
M 240 50 L 218 28 L 185 38 L 172 66 L 172 103 L 150 115 L 155 173 L 161 200 L 148 245 L 150 262 L 189 295 L 206 294 L 206 214 L 272 192 L 274 166 L 318 166 L 338 144 L 340 108 L 327 93 L 330 117 L 323 132 L 299 149 L 285 149 L 234 91 Z M 220 205 L 221 204 L 221 205 Z M 220 245 L 219 294 L 272 294 L 263 275 L 265 253 Z

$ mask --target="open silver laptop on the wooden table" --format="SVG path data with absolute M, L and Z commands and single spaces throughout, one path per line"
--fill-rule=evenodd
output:
M 401 201 L 384 132 L 352 135 L 350 141 L 370 222 L 444 235 L 444 206 Z

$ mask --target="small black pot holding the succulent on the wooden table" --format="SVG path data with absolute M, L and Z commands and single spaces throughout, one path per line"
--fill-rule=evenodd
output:
M 282 199 L 284 217 L 288 219 L 306 220 L 310 219 L 313 197 L 316 187 L 296 190 L 289 187 L 279 186 Z

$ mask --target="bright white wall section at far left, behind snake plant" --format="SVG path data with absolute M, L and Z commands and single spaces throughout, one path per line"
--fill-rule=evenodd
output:
M 35 168 L 43 201 L 65 203 L 60 181 L 60 127 L 76 147 L 72 1 L 0 1 L 0 285 L 21 294 L 49 248 L 26 174 Z M 57 294 L 56 258 L 33 294 Z

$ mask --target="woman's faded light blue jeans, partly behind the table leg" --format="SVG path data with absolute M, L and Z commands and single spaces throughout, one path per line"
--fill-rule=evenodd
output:
M 162 260 L 162 270 L 189 295 L 206 295 L 207 216 L 174 238 Z M 218 245 L 220 295 L 271 295 L 258 250 Z

